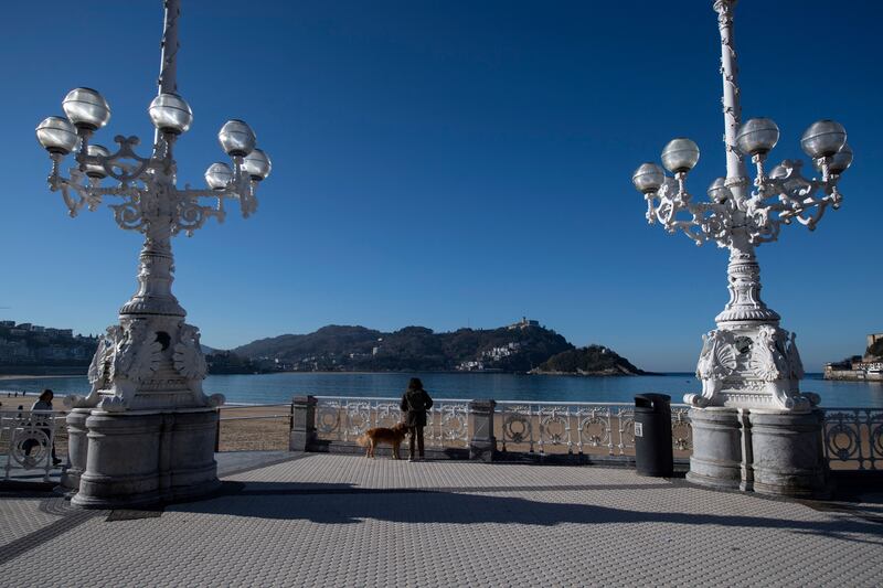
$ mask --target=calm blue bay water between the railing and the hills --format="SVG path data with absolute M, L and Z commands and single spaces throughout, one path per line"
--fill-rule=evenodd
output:
M 307 394 L 398 397 L 409 377 L 423 379 L 426 389 L 437 398 L 631 403 L 636 394 L 655 392 L 668 394 L 673 403 L 680 403 L 685 393 L 701 389 L 692 373 L 584 377 L 436 372 L 210 375 L 204 389 L 209 394 L 223 394 L 227 403 L 234 404 L 288 403 L 292 396 Z M 8 399 L 7 393 L 26 392 L 28 396 L 32 396 L 44 388 L 52 388 L 57 395 L 83 395 L 89 386 L 85 376 L 3 379 L 0 381 L 0 403 L 3 408 L 15 404 L 14 398 Z M 881 383 L 833 382 L 822 379 L 821 374 L 809 374 L 801 382 L 800 389 L 819 394 L 823 407 L 883 408 Z

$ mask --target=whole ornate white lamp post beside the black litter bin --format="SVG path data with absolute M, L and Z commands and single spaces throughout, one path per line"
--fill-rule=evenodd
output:
M 689 478 L 698 483 L 740 487 L 774 494 L 819 494 L 825 488 L 820 411 L 815 394 L 798 389 L 804 368 L 795 334 L 779 328 L 779 316 L 760 300 L 760 269 L 755 248 L 778 238 L 794 222 L 816 228 L 830 205 L 840 206 L 840 175 L 852 163 L 847 131 L 833 120 L 813 122 L 800 141 L 817 178 L 806 178 L 802 162 L 785 160 L 767 171 L 779 139 L 768 118 L 741 124 L 733 8 L 716 0 L 721 32 L 721 73 L 726 143 L 726 177 L 712 182 L 709 201 L 695 202 L 685 188 L 699 161 L 699 148 L 678 138 L 662 150 L 666 175 L 642 163 L 632 182 L 647 200 L 647 220 L 669 233 L 682 232 L 696 245 L 714 242 L 730 249 L 730 302 L 717 314 L 717 329 L 703 335 L 696 367 L 701 394 L 688 394 L 694 451 Z M 748 179 L 745 160 L 755 168 Z

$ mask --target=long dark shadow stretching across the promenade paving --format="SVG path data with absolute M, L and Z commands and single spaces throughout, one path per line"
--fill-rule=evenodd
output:
M 525 490 L 628 491 L 659 488 L 611 485 L 551 487 Z M 364 518 L 395 523 L 437 524 L 521 524 L 553 526 L 562 523 L 597 525 L 629 523 L 669 523 L 678 525 L 719 525 L 722 527 L 762 527 L 820 535 L 849 542 L 883 546 L 883 524 L 854 517 L 790 521 L 762 516 L 708 513 L 643 512 L 592 504 L 555 503 L 513 496 L 486 494 L 506 489 L 363 489 L 351 484 L 288 482 L 224 482 L 221 493 L 211 500 L 170 505 L 169 511 L 245 516 L 257 518 L 306 520 L 320 524 L 357 524 Z M 475 493 L 467 493 L 475 492 Z M 650 499 L 650 496 L 643 496 Z M 641 500 L 636 495 L 636 500 Z

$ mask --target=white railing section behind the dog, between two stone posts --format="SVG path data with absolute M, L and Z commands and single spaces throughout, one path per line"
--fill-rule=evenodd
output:
M 401 398 L 316 396 L 316 432 L 320 439 L 355 441 L 368 429 L 401 423 Z M 469 400 L 433 400 L 423 430 L 427 446 L 469 447 Z

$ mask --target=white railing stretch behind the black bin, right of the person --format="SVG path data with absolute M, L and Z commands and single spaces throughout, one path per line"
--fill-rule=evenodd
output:
M 672 448 L 693 448 L 687 405 L 671 405 Z M 609 456 L 626 456 L 635 449 L 635 406 L 629 403 L 523 403 L 498 400 L 500 449 L 528 446 L 529 452 L 545 453 L 547 446 L 568 453 L 589 448 Z

